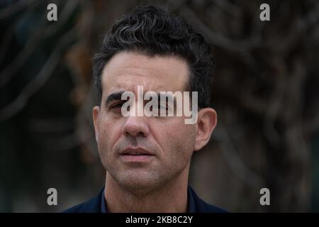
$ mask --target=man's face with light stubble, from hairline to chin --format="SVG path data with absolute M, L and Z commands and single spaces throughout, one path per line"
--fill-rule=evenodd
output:
M 120 52 L 106 64 L 101 106 L 93 111 L 94 127 L 101 162 L 122 187 L 152 190 L 188 173 L 196 124 L 185 124 L 184 116 L 124 117 L 125 101 L 111 97 L 130 91 L 138 99 L 138 85 L 144 93 L 183 92 L 188 81 L 186 62 L 177 57 Z

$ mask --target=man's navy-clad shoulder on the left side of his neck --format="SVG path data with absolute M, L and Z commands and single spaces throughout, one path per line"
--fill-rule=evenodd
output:
M 101 212 L 101 195 L 103 194 L 103 189 L 88 201 L 78 204 L 76 206 L 72 206 L 62 213 L 99 213 Z

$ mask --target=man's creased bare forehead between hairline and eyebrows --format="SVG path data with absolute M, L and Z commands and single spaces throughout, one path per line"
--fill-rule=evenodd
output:
M 148 57 L 135 52 L 120 52 L 106 64 L 102 74 L 103 96 L 113 92 L 136 92 L 138 85 L 147 91 L 184 91 L 189 68 L 179 57 Z

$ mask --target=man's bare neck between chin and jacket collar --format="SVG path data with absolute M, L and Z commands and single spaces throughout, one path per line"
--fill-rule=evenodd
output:
M 108 212 L 184 213 L 187 211 L 189 166 L 179 176 L 151 192 L 136 194 L 121 187 L 106 172 L 104 196 Z

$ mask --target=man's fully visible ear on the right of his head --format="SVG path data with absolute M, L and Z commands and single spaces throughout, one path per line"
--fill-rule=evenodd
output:
M 208 143 L 216 124 L 217 114 L 214 109 L 204 108 L 198 111 L 194 150 L 201 150 Z

